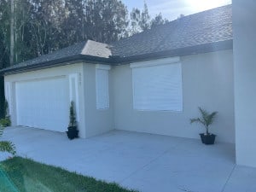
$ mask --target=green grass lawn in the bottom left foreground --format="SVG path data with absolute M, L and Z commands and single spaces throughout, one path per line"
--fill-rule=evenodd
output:
M 55 166 L 15 157 L 0 164 L 1 192 L 132 192 Z

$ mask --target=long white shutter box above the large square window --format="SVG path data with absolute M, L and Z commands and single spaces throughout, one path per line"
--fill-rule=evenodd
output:
M 169 57 L 164 59 L 158 60 L 148 60 L 148 61 L 140 61 L 140 62 L 133 62 L 130 64 L 131 68 L 138 68 L 138 67 L 150 67 L 150 66 L 160 66 L 160 65 L 168 65 L 172 63 L 180 62 L 180 57 Z

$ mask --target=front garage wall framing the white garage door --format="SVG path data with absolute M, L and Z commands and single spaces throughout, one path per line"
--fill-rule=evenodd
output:
M 16 125 L 16 107 L 15 107 L 15 84 L 17 82 L 22 81 L 30 81 L 30 80 L 40 80 L 40 79 L 49 79 L 55 77 L 64 76 L 66 79 L 67 84 L 69 84 L 69 79 L 71 74 L 77 74 L 78 78 L 78 88 L 72 91 L 69 91 L 67 94 L 70 100 L 73 100 L 73 96 L 77 98 L 78 101 L 76 103 L 77 106 L 77 120 L 78 120 L 78 127 L 79 127 L 79 136 L 85 137 L 85 124 L 84 124 L 84 82 L 81 81 L 81 77 L 83 77 L 83 64 L 78 63 L 74 65 L 66 65 L 61 67 L 52 67 L 47 69 L 41 69 L 32 72 L 26 73 L 17 73 L 17 74 L 9 74 L 5 75 L 4 83 L 5 83 L 5 96 L 9 102 L 9 110 L 12 120 L 12 125 Z M 38 87 L 40 89 L 40 87 Z M 70 87 L 69 87 L 69 90 Z M 73 95 L 73 96 L 72 96 Z M 58 112 L 56 112 L 58 113 Z M 69 117 L 67 116 L 67 119 Z

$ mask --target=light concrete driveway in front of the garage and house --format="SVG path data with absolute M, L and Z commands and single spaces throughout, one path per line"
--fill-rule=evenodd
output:
M 7 128 L 2 139 L 23 157 L 143 192 L 256 191 L 256 169 L 235 165 L 232 144 L 128 131 L 70 141 L 26 127 Z

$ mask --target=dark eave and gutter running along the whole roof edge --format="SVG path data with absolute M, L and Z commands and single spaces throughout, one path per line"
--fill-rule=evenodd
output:
M 135 61 L 147 61 L 147 60 L 160 59 L 165 57 L 203 54 L 203 53 L 215 52 L 215 51 L 224 50 L 224 49 L 233 49 L 232 39 L 221 41 L 221 42 L 209 43 L 209 44 L 200 44 L 200 45 L 195 45 L 195 46 L 190 46 L 190 47 L 185 47 L 180 49 L 170 49 L 170 50 L 160 51 L 160 52 L 155 52 L 150 54 L 134 55 L 129 57 L 113 56 L 110 58 L 102 58 L 102 57 L 97 57 L 92 55 L 73 55 L 73 56 L 68 56 L 61 59 L 56 59 L 53 61 L 40 62 L 34 65 L 28 65 L 28 66 L 16 67 L 16 68 L 6 68 L 0 71 L 0 75 L 24 73 L 28 71 L 34 71 L 34 70 L 49 68 L 49 67 L 59 67 L 64 65 L 70 65 L 73 63 L 78 63 L 79 61 L 119 66 L 119 65 L 125 65 Z

